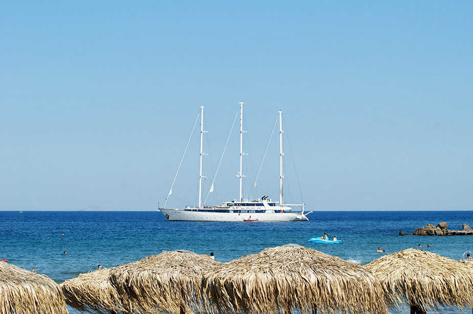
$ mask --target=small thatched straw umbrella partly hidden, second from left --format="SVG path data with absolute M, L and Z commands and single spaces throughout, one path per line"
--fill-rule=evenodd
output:
M 132 312 L 123 298 L 125 296 L 120 297 L 117 289 L 110 284 L 109 274 L 110 269 L 104 268 L 61 283 L 59 286 L 66 303 L 81 311 Z

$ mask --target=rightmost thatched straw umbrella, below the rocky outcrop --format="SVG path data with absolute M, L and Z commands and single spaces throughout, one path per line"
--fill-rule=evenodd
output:
M 365 267 L 381 280 L 388 302 L 411 313 L 444 306 L 473 306 L 473 272 L 454 259 L 407 249 L 373 260 Z

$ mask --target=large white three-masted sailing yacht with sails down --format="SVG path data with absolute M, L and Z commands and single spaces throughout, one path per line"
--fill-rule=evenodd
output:
M 202 205 L 202 136 L 204 131 L 204 107 L 200 107 L 200 157 L 199 157 L 199 196 L 198 206 L 186 206 L 184 209 L 165 208 L 166 202 L 172 193 L 172 185 L 161 212 L 170 221 L 233 221 L 233 222 L 271 222 L 271 221 L 308 221 L 304 214 L 305 204 L 283 203 L 283 142 L 282 142 L 282 111 L 279 111 L 279 159 L 280 159 L 280 182 L 279 201 L 273 201 L 263 196 L 257 200 L 245 200 L 242 196 L 242 173 L 243 163 L 243 102 L 240 102 L 240 171 L 237 174 L 240 183 L 238 200 L 223 202 L 217 206 Z M 177 174 L 176 174 L 177 175 Z M 174 178 L 175 180 L 175 178 Z M 174 182 L 173 182 L 174 184 Z M 212 189 L 212 188 L 211 188 Z M 301 207 L 301 210 L 292 210 L 291 206 Z

